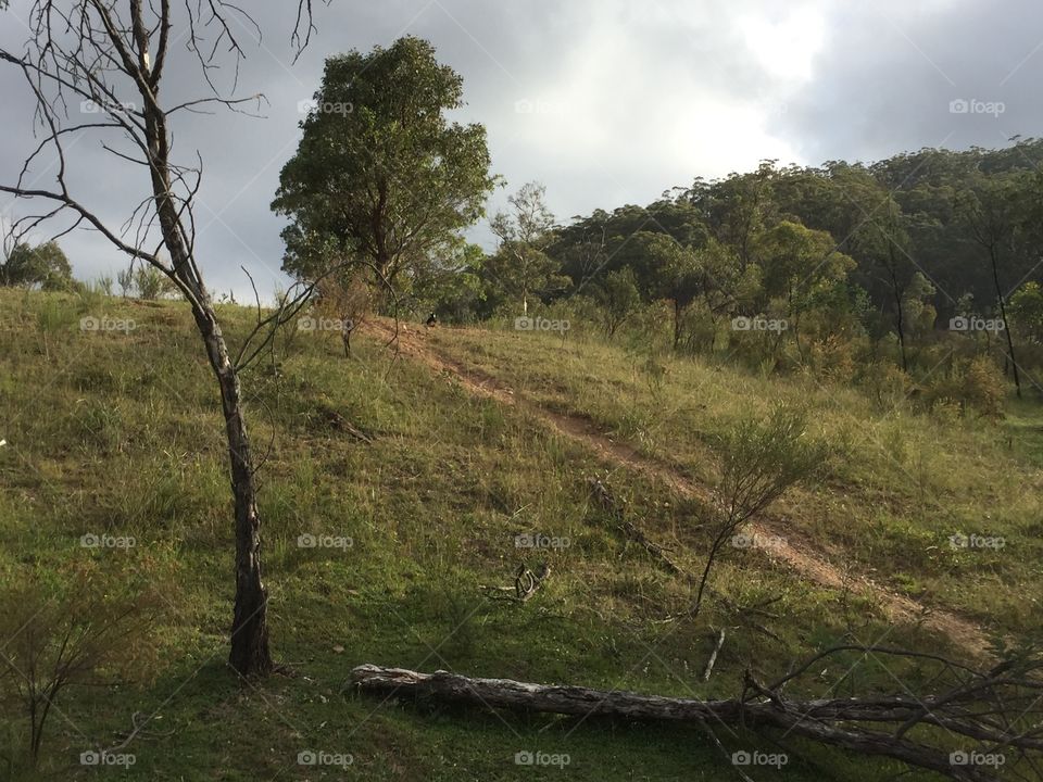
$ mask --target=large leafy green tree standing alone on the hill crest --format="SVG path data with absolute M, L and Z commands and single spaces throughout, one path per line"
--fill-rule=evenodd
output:
M 451 252 L 482 215 L 495 182 L 485 128 L 445 117 L 463 105 L 463 79 L 407 36 L 329 58 L 314 98 L 272 204 L 291 219 L 282 267 L 306 279 L 357 260 L 407 288 L 414 265 Z

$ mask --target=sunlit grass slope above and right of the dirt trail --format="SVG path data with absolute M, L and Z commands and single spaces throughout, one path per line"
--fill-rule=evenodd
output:
M 707 485 L 715 443 L 779 401 L 812 411 L 812 434 L 841 454 L 819 484 L 777 509 L 838 563 L 958 609 L 997 632 L 1043 623 L 1043 408 L 1010 402 L 1001 422 L 941 418 L 900 401 L 813 377 L 762 377 L 699 360 L 532 332 L 441 330 L 431 343 L 560 413 L 580 415 L 643 454 Z M 957 551 L 950 535 L 1004 539 L 1002 550 Z

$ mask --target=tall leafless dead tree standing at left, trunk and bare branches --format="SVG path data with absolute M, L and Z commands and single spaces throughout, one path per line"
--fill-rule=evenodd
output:
M 62 218 L 65 222 L 56 237 L 81 227 L 93 229 L 131 263 L 143 262 L 165 275 L 190 305 L 221 392 L 235 499 L 236 600 L 229 664 L 242 676 L 264 676 L 273 668 L 267 591 L 262 580 L 261 519 L 240 374 L 311 291 L 302 291 L 301 299 L 285 301 L 274 314 L 259 317 L 234 356 L 197 263 L 193 203 L 202 180 L 202 159 L 197 154 L 196 162 L 186 166 L 172 157 L 172 124 L 184 113 L 214 108 L 248 113 L 248 103 L 262 100 L 261 96 L 234 97 L 246 56 L 237 30 L 251 36 L 261 30 L 241 7 L 226 0 L 36 0 L 28 25 L 32 37 L 25 50 L 0 49 L 0 61 L 25 76 L 36 99 L 35 121 L 41 140 L 26 157 L 17 180 L 0 184 L 0 192 L 47 203 L 41 212 L 17 220 L 16 232 L 61 223 Z M 299 0 L 291 36 L 298 53 L 313 31 L 312 0 Z M 175 40 L 183 41 L 190 53 L 204 92 L 197 99 L 165 104 L 161 85 Z M 228 90 L 215 84 L 222 58 L 234 65 Z M 70 105 L 76 103 L 91 108 L 89 119 L 70 118 Z M 73 161 L 66 144 L 84 134 L 101 135 L 102 147 L 114 164 L 141 168 L 147 188 L 120 227 L 108 225 L 70 189 Z M 50 157 L 55 169 L 51 188 L 26 181 L 29 167 L 41 157 Z M 165 249 L 164 256 L 161 249 Z

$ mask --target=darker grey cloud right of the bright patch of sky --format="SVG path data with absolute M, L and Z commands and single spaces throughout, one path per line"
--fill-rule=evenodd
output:
M 779 124 L 809 162 L 1002 147 L 1015 134 L 1039 135 L 1039 3 L 964 1 L 915 17 L 859 3 L 833 16 L 831 28 L 814 83 Z M 953 113 L 952 101 L 980 104 Z M 985 103 L 1003 104 L 1002 113 L 973 112 Z

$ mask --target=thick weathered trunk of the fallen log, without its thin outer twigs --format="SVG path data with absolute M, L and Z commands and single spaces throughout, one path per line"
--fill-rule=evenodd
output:
M 887 723 L 910 720 L 943 728 L 977 742 L 994 742 L 993 726 L 967 718 L 951 694 L 937 697 L 867 697 L 791 701 L 766 690 L 747 674 L 742 698 L 700 701 L 583 686 L 537 684 L 512 679 L 480 679 L 447 671 L 422 673 L 404 668 L 362 665 L 352 670 L 355 691 L 403 699 L 441 701 L 479 708 L 541 711 L 574 717 L 615 717 L 631 720 L 724 723 L 752 730 L 778 729 L 855 753 L 888 757 L 930 769 L 963 782 L 996 779 L 991 769 L 954 762 L 945 749 L 909 737 L 907 731 L 883 732 Z M 752 696 L 751 694 L 752 693 Z M 870 729 L 877 727 L 877 729 Z M 1029 736 L 1022 735 L 1028 739 Z M 1001 748 L 1023 753 L 1026 744 L 1009 733 Z

